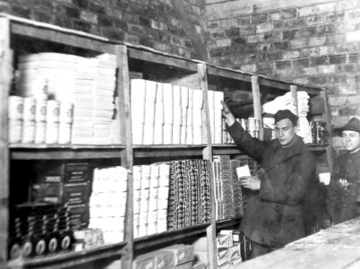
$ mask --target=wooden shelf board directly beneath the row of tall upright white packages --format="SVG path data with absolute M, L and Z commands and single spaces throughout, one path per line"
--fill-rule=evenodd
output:
M 157 158 L 157 157 L 185 157 L 202 156 L 202 151 L 207 145 L 134 145 L 134 158 Z

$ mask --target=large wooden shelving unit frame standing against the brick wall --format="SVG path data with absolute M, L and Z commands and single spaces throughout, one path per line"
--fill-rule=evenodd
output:
M 197 158 L 212 160 L 213 155 L 229 154 L 236 156 L 242 154 L 234 144 L 213 144 L 210 138 L 210 118 L 208 105 L 208 88 L 216 87 L 216 91 L 235 92 L 247 91 L 252 95 L 253 105 L 251 112 L 254 117 L 261 120 L 261 103 L 267 96 L 284 94 L 287 91 L 307 91 L 312 98 L 319 98 L 323 104 L 322 109 L 313 109 L 328 122 L 330 131 L 330 110 L 326 94 L 322 89 L 304 85 L 292 85 L 288 82 L 279 82 L 263 76 L 246 74 L 244 72 L 219 68 L 206 63 L 171 56 L 150 48 L 133 46 L 129 44 L 116 44 L 115 42 L 86 34 L 80 31 L 65 30 L 53 25 L 15 18 L 12 16 L 0 17 L 0 49 L 3 51 L 0 61 L 0 267 L 9 268 L 63 268 L 77 265 L 86 265 L 104 258 L 122 259 L 122 268 L 132 268 L 133 258 L 139 252 L 149 247 L 170 244 L 174 240 L 182 241 L 189 237 L 207 235 L 209 246 L 209 267 L 216 268 L 216 232 L 219 229 L 231 227 L 240 223 L 241 218 L 216 221 L 213 184 L 210 181 L 211 221 L 181 230 L 167 232 L 148 237 L 133 239 L 133 178 L 128 176 L 127 210 L 125 216 L 124 242 L 94 247 L 84 251 L 72 251 L 8 261 L 7 239 L 9 221 L 9 197 L 13 190 L 9 190 L 9 167 L 13 161 L 51 161 L 51 160 L 102 160 L 115 159 L 119 165 L 132 171 L 133 164 L 143 163 L 146 159 L 172 161 L 184 158 Z M 39 46 L 39 44 L 41 46 Z M 8 95 L 13 79 L 13 55 L 18 51 L 39 52 L 39 48 L 48 51 L 79 54 L 81 56 L 94 56 L 100 53 L 116 55 L 117 59 L 117 86 L 116 91 L 120 97 L 120 122 L 122 144 L 107 145 L 62 145 L 62 144 L 21 144 L 8 143 Z M 144 79 L 151 78 L 158 82 L 171 82 L 179 86 L 201 89 L 204 93 L 205 118 L 208 143 L 200 145 L 133 145 L 132 118 L 130 101 L 130 73 L 138 72 Z M 262 132 L 262 131 L 261 131 Z M 330 132 L 329 132 L 330 134 Z M 331 137 L 327 145 L 310 145 L 314 152 L 326 154 L 331 166 Z M 210 180 L 213 176 L 210 171 Z M 4 261 L 4 262 L 2 262 Z M 8 262 L 7 262 L 8 261 Z M 3 264 L 2 264 L 3 263 Z

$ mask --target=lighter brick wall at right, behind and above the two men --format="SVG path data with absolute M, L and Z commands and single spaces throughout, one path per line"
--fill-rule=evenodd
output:
M 360 1 L 227 2 L 207 6 L 210 62 L 325 88 L 334 126 L 360 116 Z

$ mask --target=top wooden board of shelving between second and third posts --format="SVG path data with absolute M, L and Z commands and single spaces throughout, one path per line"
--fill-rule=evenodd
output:
M 197 64 L 195 62 L 190 60 L 185 60 L 182 58 L 177 58 L 175 56 L 166 56 L 166 55 L 156 54 L 150 51 L 140 50 L 139 48 L 129 48 L 129 47 L 128 47 L 128 56 L 130 59 L 137 59 L 159 65 L 173 66 L 179 69 L 184 69 L 187 72 L 189 71 L 192 71 L 193 73 L 197 72 Z

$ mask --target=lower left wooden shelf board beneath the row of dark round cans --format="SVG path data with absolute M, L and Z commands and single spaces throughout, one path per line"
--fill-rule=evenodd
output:
M 30 259 L 16 259 L 8 262 L 8 268 L 70 268 L 105 258 L 121 256 L 125 243 L 93 247 L 81 251 L 69 251 Z

